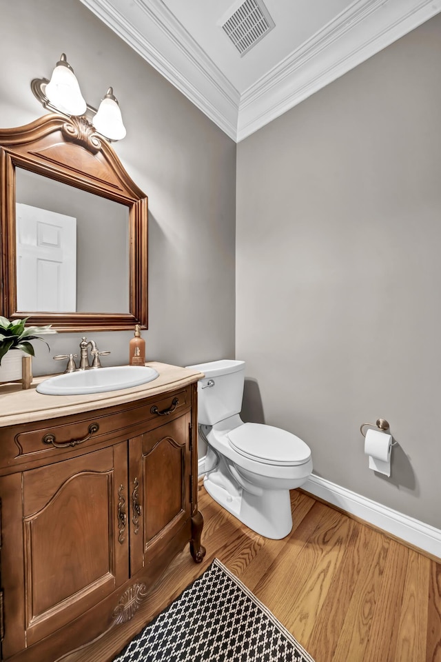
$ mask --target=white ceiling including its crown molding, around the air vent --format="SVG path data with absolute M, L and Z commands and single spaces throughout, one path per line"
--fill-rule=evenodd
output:
M 243 57 L 221 28 L 243 0 L 81 0 L 240 141 L 441 11 L 441 0 L 264 0 Z

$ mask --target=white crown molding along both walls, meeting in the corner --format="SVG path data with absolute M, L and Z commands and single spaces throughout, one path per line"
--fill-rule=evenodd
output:
M 441 0 L 356 0 L 239 94 L 161 0 L 81 0 L 234 141 L 441 11 Z

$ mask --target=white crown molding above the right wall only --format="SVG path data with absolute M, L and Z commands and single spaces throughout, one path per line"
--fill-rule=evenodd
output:
M 441 11 L 440 0 L 359 0 L 240 98 L 240 141 Z

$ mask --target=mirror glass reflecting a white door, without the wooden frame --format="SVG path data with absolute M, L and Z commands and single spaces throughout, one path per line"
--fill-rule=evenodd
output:
M 16 168 L 17 310 L 128 313 L 126 205 Z

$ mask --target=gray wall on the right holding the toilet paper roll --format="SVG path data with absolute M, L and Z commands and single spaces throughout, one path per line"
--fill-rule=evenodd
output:
M 245 417 L 316 474 L 440 528 L 441 16 L 238 145 Z M 398 441 L 368 469 L 362 423 Z

